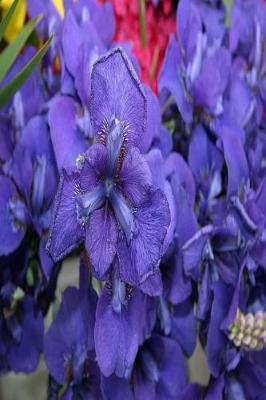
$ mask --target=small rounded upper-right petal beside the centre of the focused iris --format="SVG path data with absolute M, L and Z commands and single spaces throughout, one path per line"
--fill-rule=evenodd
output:
M 126 197 L 134 206 L 142 203 L 152 183 L 149 165 L 140 151 L 129 149 L 122 164 L 119 183 Z

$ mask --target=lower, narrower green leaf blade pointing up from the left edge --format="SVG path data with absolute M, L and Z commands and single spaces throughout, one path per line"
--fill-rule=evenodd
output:
M 53 37 L 42 46 L 42 48 L 35 54 L 34 57 L 25 65 L 25 67 L 13 78 L 10 82 L 3 87 L 0 91 L 0 108 L 3 107 L 8 100 L 20 89 L 23 83 L 28 79 L 33 69 L 39 64 L 41 59 L 47 53 Z

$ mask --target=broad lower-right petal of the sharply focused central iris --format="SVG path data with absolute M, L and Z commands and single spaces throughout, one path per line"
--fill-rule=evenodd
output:
M 162 256 L 162 245 L 170 222 L 169 206 L 161 190 L 150 192 L 134 214 L 135 234 L 118 244 L 121 277 L 132 285 L 153 274 Z

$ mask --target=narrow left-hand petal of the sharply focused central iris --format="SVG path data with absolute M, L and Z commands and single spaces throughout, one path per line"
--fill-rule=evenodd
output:
M 55 198 L 47 250 L 56 262 L 81 243 L 84 233 L 78 222 L 76 191 L 79 173 L 63 169 Z

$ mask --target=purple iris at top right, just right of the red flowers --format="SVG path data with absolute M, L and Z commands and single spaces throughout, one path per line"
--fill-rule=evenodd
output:
M 196 2 L 179 2 L 178 41 L 169 39 L 159 90 L 171 93 L 186 123 L 192 122 L 197 108 L 215 117 L 223 112 L 231 56 L 211 28 Z

